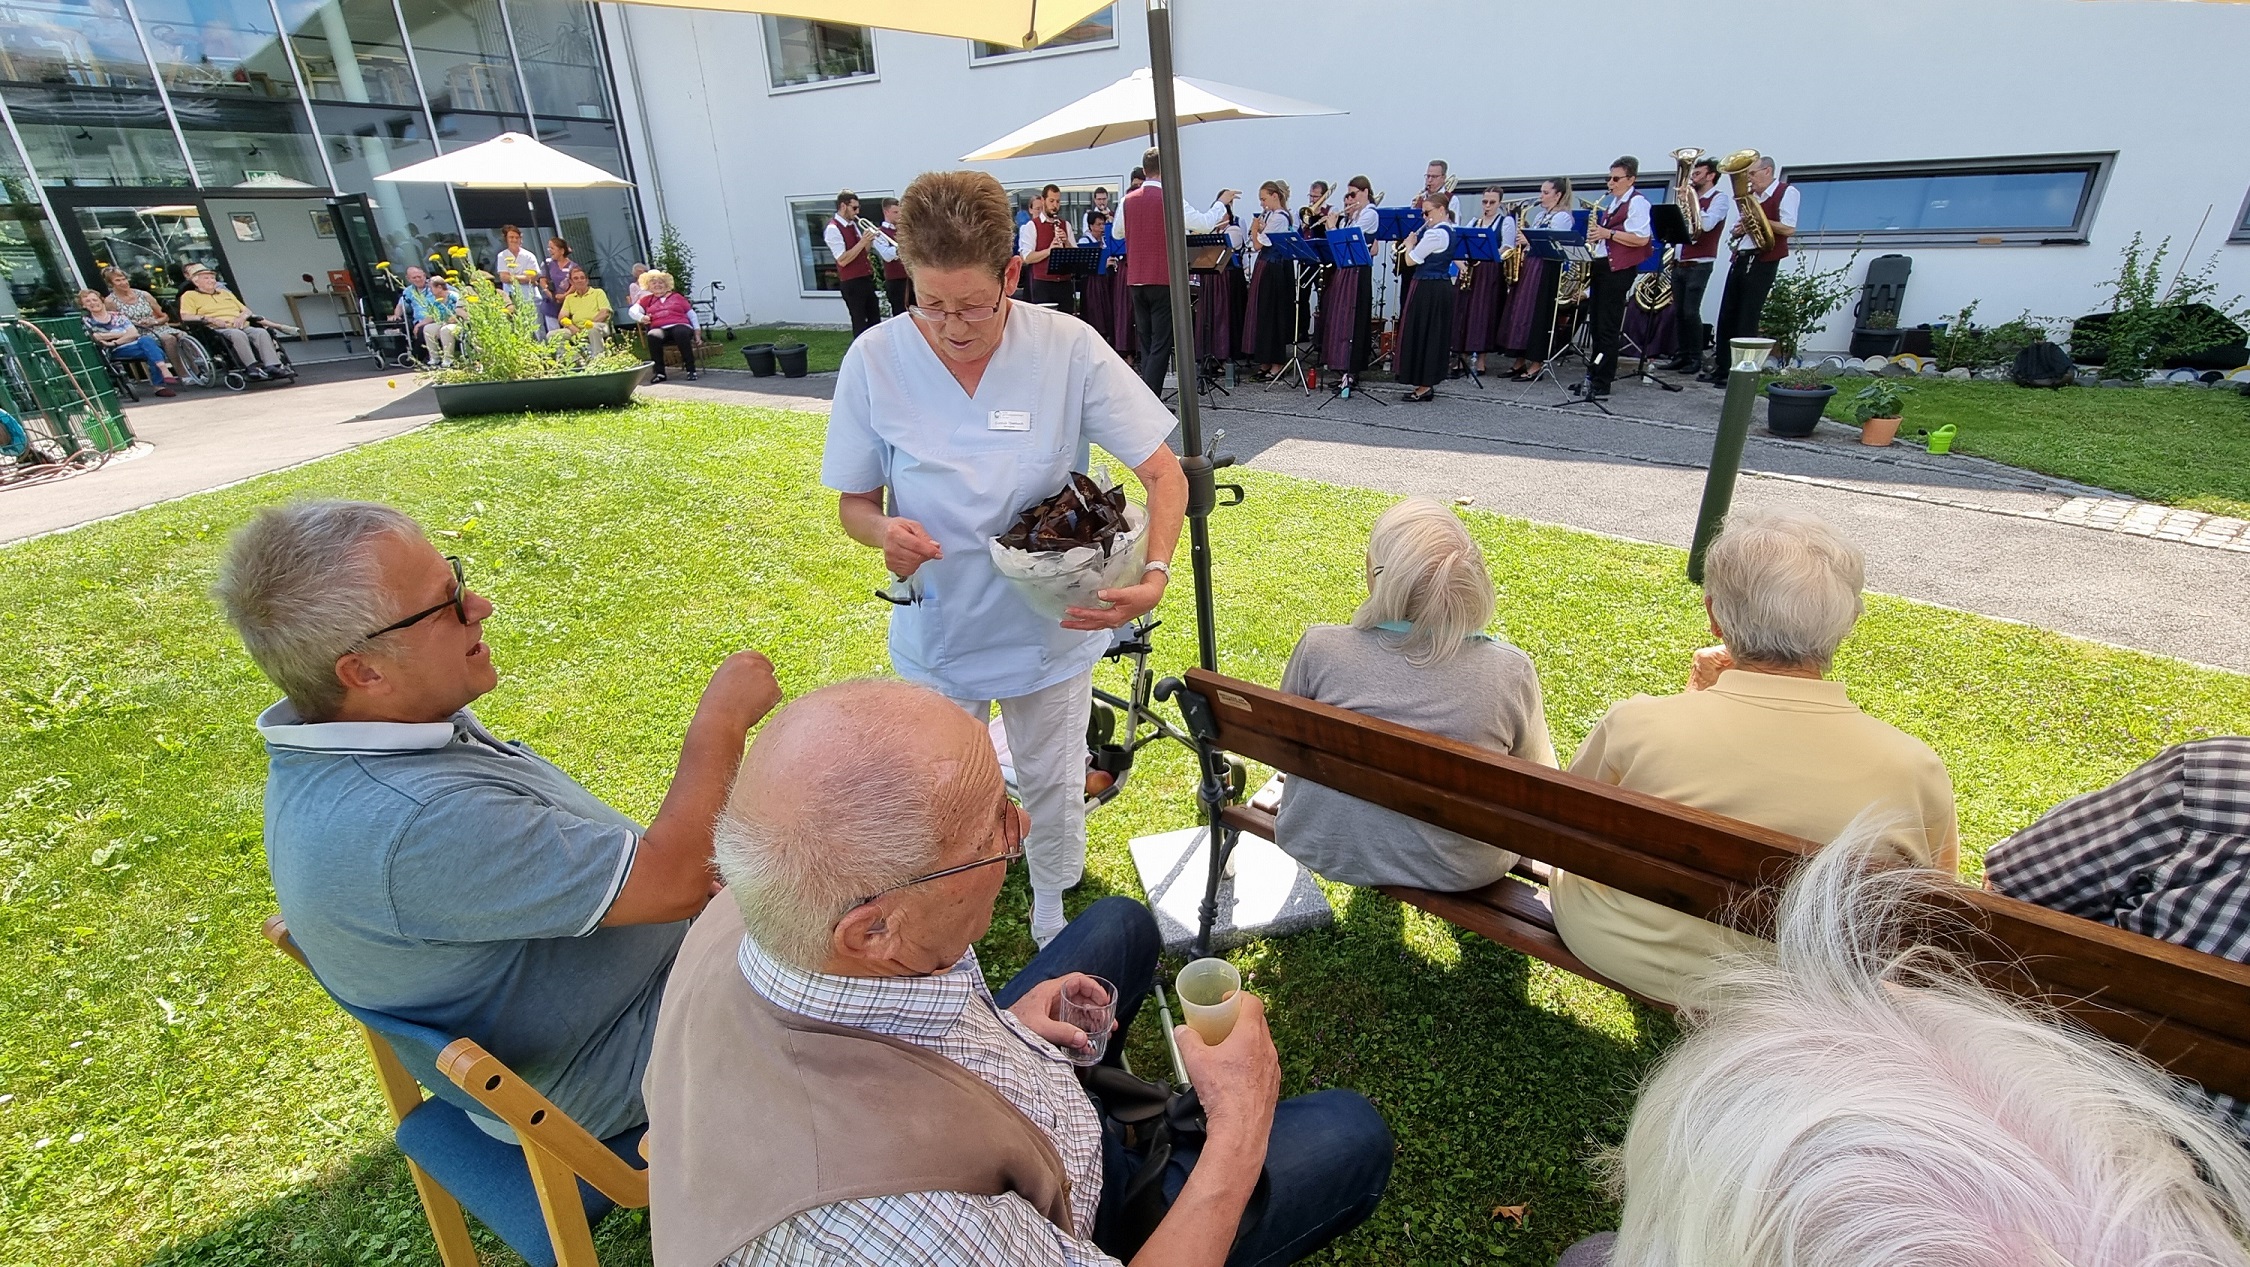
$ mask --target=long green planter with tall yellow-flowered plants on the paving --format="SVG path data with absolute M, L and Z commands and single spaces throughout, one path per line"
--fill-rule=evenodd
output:
M 493 286 L 490 275 L 470 268 L 468 250 L 450 248 L 446 279 L 459 290 L 461 353 L 452 367 L 432 369 L 436 407 L 448 419 L 513 414 L 520 410 L 598 410 L 626 405 L 648 378 L 650 362 L 628 351 L 623 340 L 592 351 L 592 331 L 540 333 L 540 313 L 518 306 Z M 380 266 L 389 272 L 389 266 Z

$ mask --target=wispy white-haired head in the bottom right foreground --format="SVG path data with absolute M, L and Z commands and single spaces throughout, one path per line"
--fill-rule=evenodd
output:
M 1564 1267 L 2246 1262 L 2241 1143 L 2140 1055 L 1917 954 L 1953 878 L 1870 871 L 1888 853 L 1836 839 L 1775 952 L 1708 981 L 1613 1157 L 1616 1238 Z

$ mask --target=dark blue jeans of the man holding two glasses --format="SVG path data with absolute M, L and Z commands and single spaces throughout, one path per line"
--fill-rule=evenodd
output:
M 1132 898 L 1102 898 L 1084 909 L 1062 936 L 1017 972 L 997 995 L 1001 1006 L 1033 986 L 1064 972 L 1091 972 L 1118 988 L 1118 1035 L 1132 1026 L 1156 977 L 1156 918 Z M 1123 1042 L 1109 1044 L 1116 1064 Z M 1141 1157 L 1114 1139 L 1102 1141 L 1102 1211 L 1094 1240 L 1102 1242 L 1116 1217 L 1116 1197 L 1141 1170 Z M 1195 1152 L 1174 1152 L 1166 1166 L 1163 1195 L 1179 1199 Z M 1256 1224 L 1246 1226 L 1228 1267 L 1280 1267 L 1321 1249 L 1359 1226 L 1390 1181 L 1390 1127 L 1357 1091 L 1292 1096 L 1274 1109 L 1267 1141 L 1269 1197 Z

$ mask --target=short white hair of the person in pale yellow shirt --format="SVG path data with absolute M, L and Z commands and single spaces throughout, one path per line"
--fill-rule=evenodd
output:
M 1703 594 L 1737 662 L 1827 666 L 1858 614 L 1868 558 L 1811 515 L 1739 513 L 1703 556 Z

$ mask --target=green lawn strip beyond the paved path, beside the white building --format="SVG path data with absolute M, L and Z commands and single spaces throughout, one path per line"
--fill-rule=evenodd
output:
M 1852 421 L 1865 378 L 1838 378 Z M 1960 428 L 1953 452 L 2027 466 L 2167 506 L 2250 518 L 2250 401 L 2200 387 L 2061 387 L 1917 378 L 1901 434 Z

